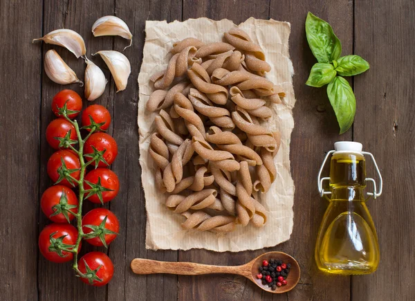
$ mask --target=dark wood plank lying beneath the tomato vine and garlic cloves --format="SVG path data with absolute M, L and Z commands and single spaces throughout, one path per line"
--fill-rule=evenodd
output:
M 113 46 L 113 37 L 93 38 L 91 28 L 93 22 L 102 17 L 102 15 L 110 15 L 113 12 L 113 1 L 44 1 L 44 34 L 50 30 L 58 28 L 70 28 L 80 33 L 84 37 L 86 44 L 86 55 L 91 58 L 91 53 L 105 49 L 109 50 Z M 40 47 L 40 46 L 39 46 Z M 43 45 L 44 53 L 49 49 L 55 49 L 62 59 L 75 71 L 77 76 L 83 80 L 85 63 L 84 60 L 77 60 L 76 57 L 66 51 L 66 49 Z M 101 67 L 106 77 L 109 79 L 110 73 L 104 62 L 99 57 L 94 57 L 93 61 Z M 44 192 L 53 183 L 48 179 L 46 173 L 46 163 L 50 154 L 53 154 L 53 149 L 48 146 L 45 138 L 45 131 L 48 123 L 55 118 L 52 111 L 50 111 L 50 104 L 55 93 L 62 89 L 73 89 L 80 95 L 83 95 L 84 88 L 77 84 L 67 86 L 60 86 L 52 82 L 47 75 L 42 73 L 42 116 L 41 116 L 41 165 L 40 165 L 40 192 Z M 104 105 L 112 113 L 113 107 L 113 84 L 107 85 L 106 91 L 101 98 L 95 102 Z M 84 102 L 84 107 L 87 103 Z M 79 121 L 79 119 L 78 119 Z M 109 129 L 109 134 L 113 131 L 113 125 Z M 85 201 L 83 212 L 91 208 L 99 207 Z M 45 224 L 50 222 L 44 217 L 42 211 L 39 214 L 39 230 L 44 228 Z M 81 256 L 91 250 L 100 250 L 107 252 L 105 248 L 96 248 L 84 243 L 82 245 Z M 85 285 L 83 282 L 74 276 L 71 264 L 53 264 L 47 262 L 42 255 L 39 256 L 39 300 L 71 300 L 71 299 L 89 299 L 89 300 L 104 300 L 106 298 L 106 289 L 95 288 L 93 286 Z

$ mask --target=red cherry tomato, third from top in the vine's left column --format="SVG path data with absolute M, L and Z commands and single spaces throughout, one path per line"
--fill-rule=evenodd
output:
M 66 150 L 66 149 L 58 150 L 57 152 L 53 153 L 52 156 L 50 156 L 49 161 L 48 161 L 48 166 L 47 166 L 47 172 L 48 172 L 50 179 L 52 179 L 52 181 L 55 183 L 59 179 L 58 170 L 60 169 L 60 167 L 62 167 L 61 158 L 63 158 L 67 170 L 77 170 L 77 171 L 72 172 L 70 175 L 73 178 L 79 180 L 80 179 L 79 169 L 81 168 L 80 159 L 75 154 L 75 152 L 71 150 Z M 68 187 L 73 187 L 73 185 L 75 186 L 77 185 L 77 183 L 75 182 L 73 182 L 73 185 L 71 185 L 71 183 L 69 183 L 68 180 L 66 179 L 59 181 L 59 184 L 65 185 Z

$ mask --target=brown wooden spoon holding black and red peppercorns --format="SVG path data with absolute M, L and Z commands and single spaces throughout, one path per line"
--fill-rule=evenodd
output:
M 279 259 L 286 264 L 291 264 L 290 273 L 288 273 L 287 284 L 279 286 L 273 291 L 268 285 L 263 285 L 257 278 L 258 269 L 262 266 L 263 260 Z M 131 261 L 131 270 L 136 274 L 175 274 L 175 275 L 203 275 L 203 274 L 237 274 L 247 277 L 264 291 L 270 293 L 285 293 L 291 291 L 297 285 L 299 280 L 299 265 L 290 255 L 282 252 L 268 252 L 251 260 L 241 266 L 211 266 L 208 264 L 195 264 L 193 262 L 158 262 L 157 260 L 136 258 Z

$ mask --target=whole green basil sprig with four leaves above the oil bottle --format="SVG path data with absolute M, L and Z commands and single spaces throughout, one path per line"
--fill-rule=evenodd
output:
M 353 124 L 356 98 L 353 89 L 342 76 L 353 76 L 369 69 L 369 63 L 358 55 L 342 54 L 342 44 L 326 21 L 308 12 L 306 19 L 308 46 L 317 59 L 306 84 L 320 88 L 327 86 L 327 95 L 340 126 L 340 134 Z

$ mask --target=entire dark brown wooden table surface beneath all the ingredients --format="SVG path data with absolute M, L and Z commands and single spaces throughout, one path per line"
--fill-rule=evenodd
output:
M 371 69 L 351 80 L 357 99 L 353 128 L 342 136 L 325 89 L 304 84 L 315 59 L 306 42 L 306 13 L 329 21 L 343 54 L 364 57 Z M 71 28 L 86 40 L 87 55 L 121 51 L 120 37 L 93 38 L 91 26 L 104 15 L 127 22 L 133 46 L 124 51 L 132 71 L 127 90 L 115 93 L 113 80 L 95 103 L 113 116 L 109 129 L 118 142 L 112 170 L 121 183 L 109 208 L 120 219 L 120 235 L 107 253 L 115 275 L 104 288 L 86 286 L 70 264 L 53 264 L 39 254 L 37 237 L 48 224 L 39 199 L 49 185 L 45 129 L 53 114 L 53 95 L 64 89 L 43 71 L 44 53 L 54 48 L 83 78 L 84 62 L 63 48 L 32 44 L 50 30 Z M 145 248 L 145 199 L 140 185 L 137 77 L 142 60 L 145 20 L 173 21 L 209 17 L 238 23 L 255 17 L 291 22 L 290 54 L 294 64 L 295 129 L 291 170 L 295 181 L 294 228 L 291 239 L 264 250 L 213 253 L 207 250 L 151 251 Z M 415 248 L 415 2 L 413 0 L 1 0 L 0 5 L 0 299 L 1 300 L 414 300 Z M 94 60 L 109 70 L 100 59 Z M 65 88 L 83 93 L 73 84 Z M 84 102 L 85 105 L 86 102 Z M 365 276 L 325 275 L 317 271 L 313 250 L 327 203 L 320 199 L 316 176 L 325 152 L 336 140 L 363 143 L 378 161 L 385 188 L 369 210 L 380 243 L 376 273 Z M 374 170 L 369 165 L 369 174 Z M 88 204 L 86 209 L 91 208 Z M 91 246 L 83 251 L 92 250 Z M 297 258 L 302 276 L 291 292 L 272 295 L 233 275 L 138 276 L 129 264 L 135 257 L 205 264 L 243 264 L 264 251 L 282 250 Z

